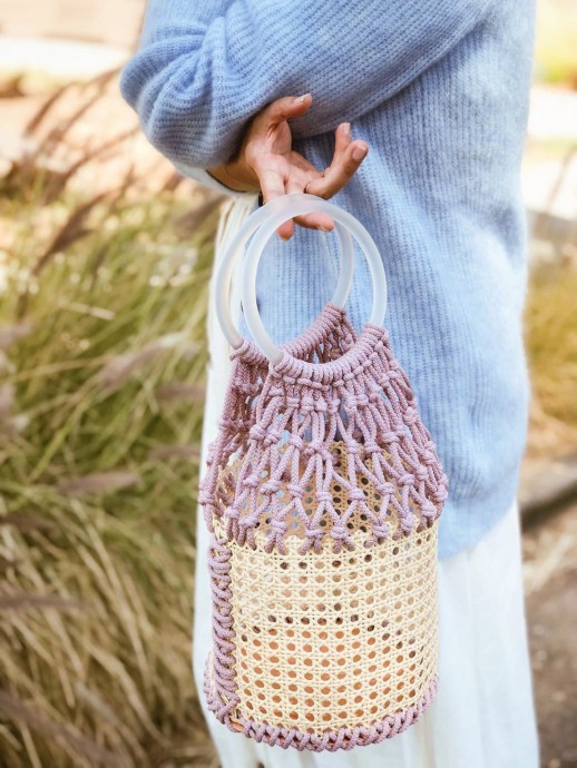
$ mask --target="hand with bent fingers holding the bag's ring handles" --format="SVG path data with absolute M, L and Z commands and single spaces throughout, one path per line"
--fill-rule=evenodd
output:
M 352 141 L 350 124 L 342 122 L 335 131 L 334 156 L 325 170 L 316 170 L 302 155 L 292 149 L 288 120 L 306 112 L 311 93 L 284 97 L 261 110 L 251 121 L 237 156 L 231 163 L 208 168 L 218 181 L 237 191 L 262 191 L 264 203 L 274 197 L 302 193 L 325 199 L 342 189 L 366 157 L 365 141 Z M 330 232 L 334 227 L 327 214 L 305 214 L 282 224 L 277 234 L 285 240 L 294 234 L 294 224 Z

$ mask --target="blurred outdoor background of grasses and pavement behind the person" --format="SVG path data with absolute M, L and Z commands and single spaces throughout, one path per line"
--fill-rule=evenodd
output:
M 8 0 L 0 13 L 7 768 L 218 765 L 190 639 L 207 280 L 223 199 L 176 175 L 118 95 L 141 10 L 140 0 L 91 10 Z M 538 30 L 522 179 L 529 502 L 551 466 L 569 467 L 570 486 L 577 449 L 577 7 L 544 0 Z M 547 768 L 577 766 L 570 637 L 563 621 L 551 630 L 544 597 L 556 579 L 561 597 L 575 594 L 571 503 L 525 535 Z

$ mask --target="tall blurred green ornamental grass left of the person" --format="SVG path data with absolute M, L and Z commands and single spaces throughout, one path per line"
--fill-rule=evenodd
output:
M 129 198 L 0 207 L 7 768 L 211 762 L 190 636 L 216 209 Z

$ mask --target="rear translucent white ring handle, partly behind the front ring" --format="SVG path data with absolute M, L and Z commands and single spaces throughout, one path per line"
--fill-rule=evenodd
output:
M 278 200 L 281 199 L 287 199 L 288 197 L 292 196 L 283 196 L 280 198 L 276 198 Z M 300 197 L 313 197 L 312 195 L 300 195 Z M 315 196 L 316 197 L 316 196 Z M 321 198 L 316 198 L 321 199 Z M 275 200 L 272 200 L 271 203 L 274 203 Z M 221 262 L 221 267 L 218 269 L 218 273 L 216 275 L 216 285 L 215 285 L 215 298 L 216 298 L 216 316 L 218 318 L 218 323 L 221 324 L 221 328 L 223 329 L 224 335 L 226 336 L 226 339 L 231 344 L 231 346 L 235 349 L 237 349 L 241 344 L 243 343 L 243 337 L 236 329 L 233 318 L 231 316 L 231 308 L 229 308 L 229 291 L 231 291 L 231 279 L 233 275 L 233 267 L 234 267 L 234 262 L 235 262 L 235 256 L 238 250 L 243 252 L 247 240 L 251 238 L 251 236 L 263 225 L 263 223 L 266 223 L 271 215 L 275 213 L 275 208 L 271 209 L 268 206 L 271 203 L 266 204 L 265 206 L 262 206 L 261 208 L 257 208 L 254 210 L 251 216 L 244 221 L 243 226 L 238 229 L 234 238 L 231 240 L 231 244 L 228 245 L 223 259 Z M 285 207 L 283 207 L 283 211 L 285 210 Z M 299 214 L 290 214 L 288 209 L 285 218 L 283 221 L 285 221 L 288 218 L 292 218 L 293 216 L 297 216 Z M 274 229 L 273 229 L 274 232 Z M 349 293 L 351 292 L 351 285 L 353 282 L 353 269 L 354 269 L 354 247 L 353 247 L 353 240 L 352 237 L 346 229 L 346 227 L 342 226 L 341 224 L 336 224 L 336 234 L 339 235 L 339 243 L 341 246 L 341 258 L 340 258 L 340 264 L 341 264 L 341 270 L 339 274 L 339 282 L 336 284 L 336 288 L 334 291 L 333 297 L 332 297 L 332 303 L 336 304 L 336 306 L 343 307 L 346 304 L 346 299 L 349 298 Z M 270 235 L 266 237 L 268 239 Z

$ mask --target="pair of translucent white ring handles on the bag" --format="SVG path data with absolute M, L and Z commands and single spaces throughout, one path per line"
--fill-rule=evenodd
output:
M 352 235 L 364 253 L 373 283 L 373 306 L 370 322 L 373 325 L 382 325 L 384 321 L 387 312 L 387 277 L 379 249 L 363 225 L 348 210 L 333 203 L 327 203 L 316 195 L 293 193 L 275 197 L 253 211 L 236 233 L 224 254 L 215 286 L 216 316 L 221 328 L 228 343 L 234 348 L 238 348 L 243 343 L 243 337 L 239 335 L 231 317 L 228 294 L 236 252 L 239 248 L 245 248 L 246 243 L 252 237 L 244 262 L 241 301 L 248 331 L 257 346 L 273 365 L 281 362 L 284 353 L 268 336 L 258 314 L 256 304 L 256 272 L 258 263 L 268 239 L 284 221 L 295 216 L 312 213 L 329 214 L 334 219 L 336 226 L 336 234 L 341 246 L 341 270 L 333 298 L 331 299 L 333 304 L 343 307 L 351 289 L 354 268 Z

